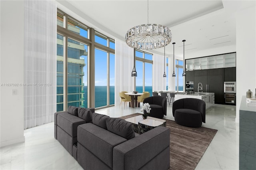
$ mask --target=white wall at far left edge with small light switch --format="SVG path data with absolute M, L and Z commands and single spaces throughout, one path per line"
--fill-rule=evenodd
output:
M 0 1 L 0 146 L 24 142 L 24 1 Z M 18 83 L 18 86 L 5 86 Z M 16 90 L 16 95 L 12 95 Z

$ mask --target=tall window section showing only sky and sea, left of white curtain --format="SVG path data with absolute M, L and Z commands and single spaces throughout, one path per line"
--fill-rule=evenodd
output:
M 95 107 L 114 105 L 115 49 L 111 38 L 95 32 Z

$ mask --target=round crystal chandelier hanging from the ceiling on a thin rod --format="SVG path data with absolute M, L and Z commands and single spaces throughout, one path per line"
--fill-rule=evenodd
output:
M 159 24 L 142 24 L 128 30 L 125 35 L 129 47 L 136 49 L 157 49 L 168 45 L 172 33 L 166 26 Z

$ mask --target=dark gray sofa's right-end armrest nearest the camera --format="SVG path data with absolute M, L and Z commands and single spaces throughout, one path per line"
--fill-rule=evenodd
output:
M 170 129 L 156 127 L 115 146 L 113 170 L 143 169 L 143 166 L 145 167 L 162 152 L 168 152 L 168 155 L 158 159 L 158 163 L 165 164 L 168 169 L 170 166 Z

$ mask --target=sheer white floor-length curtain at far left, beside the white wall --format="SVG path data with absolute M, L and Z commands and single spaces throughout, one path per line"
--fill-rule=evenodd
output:
M 24 29 L 24 128 L 54 121 L 56 112 L 55 1 L 26 0 Z

